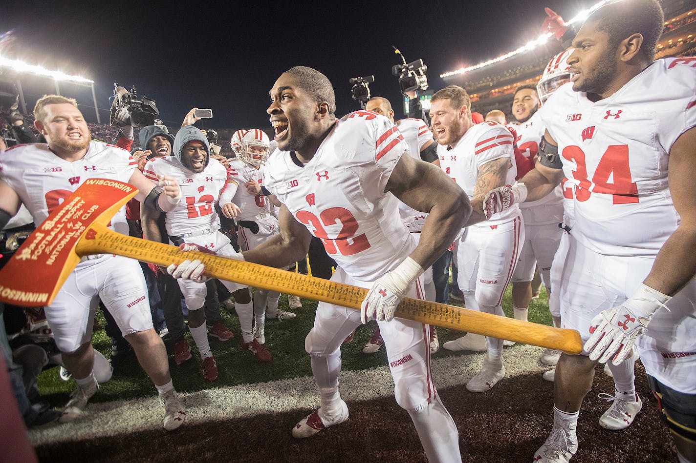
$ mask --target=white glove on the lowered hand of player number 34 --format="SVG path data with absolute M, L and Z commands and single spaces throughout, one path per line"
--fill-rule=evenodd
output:
M 667 309 L 665 303 L 670 299 L 670 296 L 641 284 L 626 302 L 592 318 L 592 336 L 583 346 L 590 360 L 599 359 L 605 364 L 613 356 L 612 364 L 623 362 L 631 355 L 635 340 L 643 334 L 652 315 L 660 307 Z

